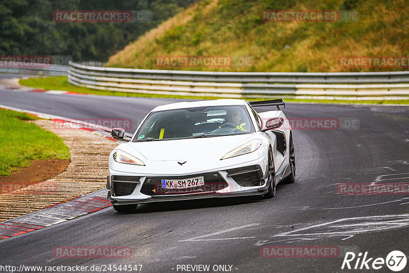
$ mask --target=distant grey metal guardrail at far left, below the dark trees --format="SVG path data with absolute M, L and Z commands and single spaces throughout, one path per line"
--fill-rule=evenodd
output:
M 0 73 L 36 76 L 67 76 L 68 65 L 25 65 L 16 67 L 0 66 Z

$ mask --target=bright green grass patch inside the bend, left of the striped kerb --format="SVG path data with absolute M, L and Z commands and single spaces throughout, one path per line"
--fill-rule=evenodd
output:
M 54 133 L 25 121 L 35 116 L 0 109 L 0 175 L 30 165 L 32 160 L 70 159 L 70 150 Z

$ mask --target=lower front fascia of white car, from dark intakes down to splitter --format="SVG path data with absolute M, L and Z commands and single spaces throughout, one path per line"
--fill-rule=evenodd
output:
M 113 204 L 191 200 L 214 197 L 262 195 L 267 190 L 266 172 L 260 165 L 180 176 L 111 175 L 107 179 L 108 200 Z M 161 179 L 204 176 L 205 185 L 187 189 L 162 189 Z M 122 180 L 119 180 L 122 178 Z M 118 186 L 120 185 L 120 186 Z M 122 195 L 121 195 L 122 194 Z M 124 195 L 126 194 L 126 195 Z

